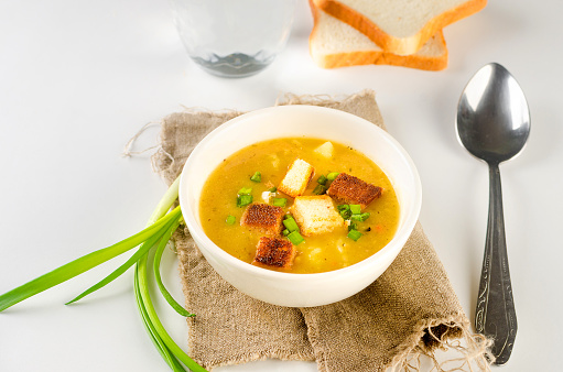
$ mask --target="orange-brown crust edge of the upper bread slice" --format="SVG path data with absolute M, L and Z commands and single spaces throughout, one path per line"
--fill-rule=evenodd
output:
M 412 55 L 416 53 L 436 32 L 448 24 L 480 11 L 487 0 L 468 0 L 431 19 L 414 35 L 396 37 L 386 33 L 368 17 L 359 13 L 338 0 L 311 0 L 318 9 L 349 24 L 368 36 L 373 43 L 388 53 L 396 55 Z

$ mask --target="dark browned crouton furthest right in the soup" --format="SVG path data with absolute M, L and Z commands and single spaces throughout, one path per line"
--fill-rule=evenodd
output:
M 365 209 L 381 196 L 381 187 L 368 184 L 358 177 L 340 173 L 331 184 L 326 194 L 347 204 L 359 204 Z

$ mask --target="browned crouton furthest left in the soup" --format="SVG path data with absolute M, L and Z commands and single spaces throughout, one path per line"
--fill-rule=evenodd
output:
M 267 236 L 279 236 L 282 231 L 283 208 L 255 203 L 247 207 L 240 225 L 256 229 Z

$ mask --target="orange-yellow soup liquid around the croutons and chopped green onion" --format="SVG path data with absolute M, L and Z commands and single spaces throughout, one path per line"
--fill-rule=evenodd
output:
M 224 160 L 206 180 L 199 201 L 199 218 L 207 237 L 229 254 L 251 263 L 263 233 L 240 225 L 246 207 L 237 206 L 238 193 L 251 188 L 253 203 L 267 203 L 263 196 L 286 198 L 283 209 L 289 214 L 293 198 L 281 192 L 274 195 L 267 192 L 280 184 L 295 158 L 302 158 L 315 168 L 303 195 L 313 195 L 318 177 L 336 172 L 379 186 L 382 193 L 362 210 L 369 212 L 369 218 L 354 222 L 354 228 L 361 233 L 359 239 L 348 237 L 346 223 L 332 232 L 304 237 L 304 242 L 295 245 L 297 252 L 292 267 L 280 270 L 292 273 L 333 271 L 355 264 L 383 248 L 399 223 L 399 203 L 390 180 L 372 161 L 343 144 L 332 142 L 332 156 L 320 154 L 315 149 L 324 143 L 326 140 L 310 138 L 277 139 L 252 144 Z M 250 179 L 256 172 L 261 174 L 260 182 L 256 182 L 256 177 Z M 335 206 L 343 204 L 333 201 Z

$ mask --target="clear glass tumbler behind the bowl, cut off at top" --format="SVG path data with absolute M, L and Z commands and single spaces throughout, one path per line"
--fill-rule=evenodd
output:
M 199 66 L 221 77 L 257 74 L 288 41 L 296 0 L 171 0 L 180 37 Z

